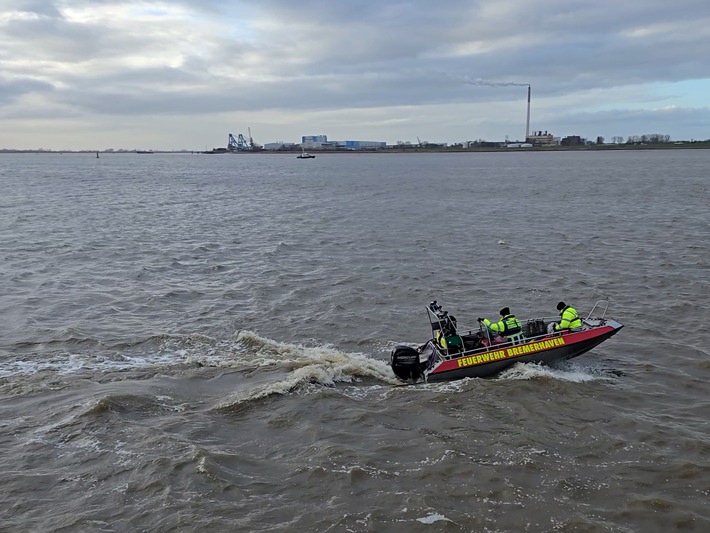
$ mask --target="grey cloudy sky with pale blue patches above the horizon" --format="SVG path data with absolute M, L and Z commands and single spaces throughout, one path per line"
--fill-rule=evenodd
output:
M 709 0 L 0 0 L 0 148 L 710 138 Z

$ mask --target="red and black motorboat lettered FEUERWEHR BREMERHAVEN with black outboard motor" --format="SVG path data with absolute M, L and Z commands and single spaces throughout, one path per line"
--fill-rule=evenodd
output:
M 582 326 L 576 330 L 550 333 L 555 318 L 521 320 L 524 335 L 515 341 L 496 336 L 485 325 L 478 331 L 459 328 L 453 315 L 436 301 L 426 310 L 432 338 L 414 348 L 397 345 L 390 356 L 390 366 L 402 381 L 449 381 L 482 378 L 498 374 L 515 363 L 551 363 L 571 359 L 588 352 L 624 326 L 606 317 L 609 303 L 598 301 Z

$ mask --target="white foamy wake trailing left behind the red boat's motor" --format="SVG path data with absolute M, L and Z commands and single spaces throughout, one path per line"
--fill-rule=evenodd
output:
M 190 375 L 212 379 L 238 370 L 248 386 L 220 405 L 286 394 L 308 384 L 332 387 L 369 379 L 378 384 L 398 383 L 384 361 L 364 353 L 349 353 L 315 342 L 310 345 L 278 342 L 253 331 L 228 339 L 204 335 L 161 335 L 126 348 L 75 351 L 74 347 L 30 352 L 0 363 L 0 388 L 5 392 L 45 386 L 62 388 L 76 378 L 111 382 L 161 375 Z

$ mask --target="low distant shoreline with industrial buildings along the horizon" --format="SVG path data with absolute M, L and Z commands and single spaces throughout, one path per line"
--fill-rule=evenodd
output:
M 378 149 L 360 149 L 360 150 L 338 150 L 327 149 L 318 150 L 309 148 L 309 151 L 318 154 L 426 154 L 426 153 L 478 153 L 478 152 L 594 152 L 594 151 L 609 151 L 609 150 L 678 150 L 678 149 L 710 149 L 710 140 L 708 141 L 688 141 L 688 142 L 673 142 L 673 143 L 654 143 L 654 144 L 595 144 L 584 146 L 533 146 L 533 147 L 392 147 Z M 105 154 L 105 155 L 144 155 L 144 154 L 179 154 L 179 155 L 242 155 L 242 154 L 265 154 L 265 155 L 287 155 L 301 153 L 300 147 L 292 150 L 256 150 L 256 151 L 240 151 L 240 152 L 216 152 L 206 153 L 203 150 L 131 150 L 131 151 L 107 151 L 107 150 L 14 150 L 0 149 L 0 154 Z

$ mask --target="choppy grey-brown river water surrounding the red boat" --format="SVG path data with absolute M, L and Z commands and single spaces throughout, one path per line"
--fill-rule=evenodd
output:
M 708 531 L 708 169 L 0 156 L 0 529 Z M 626 327 L 399 386 L 433 299 Z

